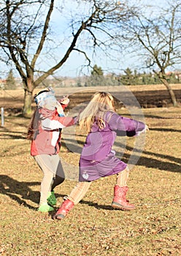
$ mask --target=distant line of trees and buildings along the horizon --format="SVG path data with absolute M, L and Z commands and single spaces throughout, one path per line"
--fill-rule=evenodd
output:
M 181 83 L 181 72 L 168 72 L 166 74 L 168 83 Z M 39 88 L 43 87 L 88 87 L 88 86 L 120 86 L 121 84 L 125 86 L 134 85 L 151 85 L 151 84 L 161 84 L 158 76 L 155 73 L 150 72 L 137 72 L 132 71 L 127 68 L 124 70 L 123 74 L 115 75 L 110 73 L 104 75 L 101 67 L 96 65 L 93 67 L 91 74 L 88 76 L 81 76 L 77 78 L 69 77 L 59 77 L 59 78 L 47 78 L 43 83 L 39 85 Z M 0 80 L 1 89 L 17 89 L 22 87 L 23 84 L 20 80 L 14 78 L 12 70 L 10 70 L 9 75 L 6 80 Z

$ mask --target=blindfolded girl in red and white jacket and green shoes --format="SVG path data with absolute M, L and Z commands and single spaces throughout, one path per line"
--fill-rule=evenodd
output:
M 56 198 L 53 189 L 65 179 L 58 156 L 61 129 L 75 124 L 75 119 L 63 113 L 69 99 L 65 97 L 58 102 L 52 89 L 40 91 L 34 101 L 36 110 L 28 127 L 27 138 L 31 140 L 31 156 L 43 172 L 38 211 L 54 211 Z

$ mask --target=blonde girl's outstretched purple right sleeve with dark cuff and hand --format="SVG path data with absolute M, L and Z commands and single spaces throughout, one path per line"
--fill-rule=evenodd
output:
M 110 113 L 107 120 L 109 128 L 120 136 L 132 137 L 145 131 L 145 124 L 141 121 L 119 116 L 117 113 Z

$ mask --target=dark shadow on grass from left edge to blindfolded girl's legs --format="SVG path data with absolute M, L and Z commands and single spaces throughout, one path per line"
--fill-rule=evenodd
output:
M 26 200 L 31 200 L 34 203 L 39 201 L 39 192 L 33 191 L 30 187 L 40 185 L 39 182 L 20 182 L 7 175 L 0 175 L 0 193 L 9 196 L 19 205 L 23 205 L 30 209 L 36 210 L 35 207 L 29 205 Z

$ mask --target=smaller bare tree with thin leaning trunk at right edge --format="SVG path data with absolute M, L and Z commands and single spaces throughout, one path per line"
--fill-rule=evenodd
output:
M 134 49 L 132 53 L 139 56 L 139 63 L 145 61 L 145 67 L 153 69 L 169 91 L 173 105 L 177 106 L 166 71 L 181 64 L 181 1 L 168 1 L 165 6 L 162 4 L 149 12 L 151 7 L 142 6 L 133 12 L 134 18 L 124 23 L 124 29 L 122 26 L 126 33 L 121 34 L 120 39 Z

